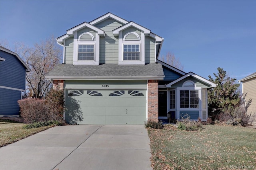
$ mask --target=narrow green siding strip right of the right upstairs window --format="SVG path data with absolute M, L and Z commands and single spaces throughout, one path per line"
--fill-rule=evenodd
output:
M 155 40 L 145 36 L 145 63 L 155 63 Z

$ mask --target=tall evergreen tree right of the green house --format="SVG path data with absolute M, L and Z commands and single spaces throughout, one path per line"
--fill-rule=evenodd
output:
M 216 83 L 217 87 L 208 91 L 208 114 L 215 118 L 218 114 L 225 111 L 232 111 L 236 106 L 240 105 L 241 92 L 238 89 L 240 84 L 237 84 L 236 78 L 227 76 L 223 68 L 217 68 L 218 73 L 214 74 L 215 80 L 209 75 L 209 80 Z

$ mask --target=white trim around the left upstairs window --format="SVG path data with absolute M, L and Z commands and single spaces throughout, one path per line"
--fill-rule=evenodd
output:
M 88 34 L 90 34 L 93 38 L 94 36 L 92 35 L 92 33 L 86 32 Z M 80 36 L 82 36 L 85 33 L 81 33 Z M 73 51 L 73 64 L 74 65 L 99 65 L 100 63 L 100 36 L 98 35 L 98 33 L 95 33 L 95 39 L 94 41 L 89 40 L 89 41 L 80 41 L 77 35 L 77 31 L 74 32 L 74 51 Z M 94 45 L 94 61 L 79 61 L 78 60 L 78 45 Z

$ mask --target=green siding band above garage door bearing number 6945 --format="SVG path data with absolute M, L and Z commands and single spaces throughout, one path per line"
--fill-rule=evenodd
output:
M 147 88 L 147 80 L 65 80 L 65 88 L 99 89 L 104 84 L 109 88 Z

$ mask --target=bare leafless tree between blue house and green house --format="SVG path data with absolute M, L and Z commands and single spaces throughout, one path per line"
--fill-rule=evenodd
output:
M 50 80 L 46 80 L 44 76 L 60 61 L 61 51 L 56 45 L 56 40 L 51 36 L 41 43 L 36 43 L 32 48 L 17 43 L 15 52 L 31 69 L 26 76 L 29 96 L 42 98 L 51 88 Z

